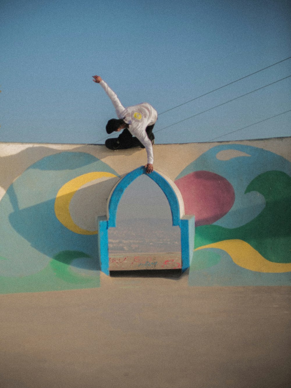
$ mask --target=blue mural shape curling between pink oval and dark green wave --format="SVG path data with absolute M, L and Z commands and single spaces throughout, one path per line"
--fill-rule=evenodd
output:
M 235 192 L 235 201 L 224 217 L 215 222 L 235 229 L 256 218 L 265 208 L 265 198 L 257 191 L 245 192 L 250 182 L 261 173 L 278 170 L 291 175 L 291 163 L 282 156 L 262 148 L 243 144 L 217 145 L 204 152 L 177 176 L 208 170 L 226 178 Z M 238 179 L 239 177 L 239 179 Z

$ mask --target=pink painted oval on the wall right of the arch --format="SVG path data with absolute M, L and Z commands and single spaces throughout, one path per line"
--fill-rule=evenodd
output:
M 210 171 L 194 171 L 176 180 L 185 214 L 195 214 L 195 225 L 208 225 L 223 217 L 234 203 L 229 181 Z

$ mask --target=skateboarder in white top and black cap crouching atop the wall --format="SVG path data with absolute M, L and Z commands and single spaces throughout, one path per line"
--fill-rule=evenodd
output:
M 146 149 L 147 164 L 146 173 L 153 171 L 153 126 L 157 121 L 157 111 L 147 102 L 124 108 L 117 95 L 98 75 L 93 76 L 93 81 L 100 83 L 115 107 L 118 119 L 111 119 L 106 125 L 106 132 L 120 132 L 119 137 L 107 139 L 105 145 L 109 149 L 127 149 L 142 147 Z M 133 137 L 134 135 L 134 137 Z

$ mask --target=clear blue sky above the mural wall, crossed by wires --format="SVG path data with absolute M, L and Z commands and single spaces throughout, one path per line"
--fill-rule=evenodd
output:
M 124 106 L 162 113 L 291 56 L 285 0 L 2 0 L 0 141 L 104 143 Z M 161 114 L 156 143 L 205 142 L 291 109 L 291 59 Z M 291 113 L 218 140 L 290 136 Z M 163 129 L 164 127 L 169 128 Z M 103 140 L 100 140 L 103 139 Z

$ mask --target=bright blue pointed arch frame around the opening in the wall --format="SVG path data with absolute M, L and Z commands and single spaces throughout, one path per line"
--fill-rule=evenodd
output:
M 98 253 L 101 262 L 101 270 L 109 275 L 108 256 L 108 229 L 116 226 L 116 214 L 119 201 L 126 188 L 140 175 L 146 174 L 145 167 L 141 166 L 131 171 L 113 187 L 107 199 L 107 215 L 98 217 Z M 170 205 L 173 226 L 181 228 L 181 257 L 182 271 L 186 270 L 193 256 L 195 221 L 194 215 L 185 216 L 184 202 L 177 186 L 164 174 L 153 171 L 147 175 L 164 192 Z

